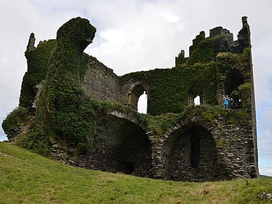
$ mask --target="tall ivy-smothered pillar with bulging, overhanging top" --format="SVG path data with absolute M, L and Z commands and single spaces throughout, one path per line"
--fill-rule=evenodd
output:
M 60 27 L 38 104 L 38 120 L 43 121 L 44 134 L 54 135 L 55 140 L 79 151 L 90 147 L 95 130 L 97 102 L 84 95 L 81 87 L 88 62 L 83 50 L 95 31 L 82 18 L 73 18 Z

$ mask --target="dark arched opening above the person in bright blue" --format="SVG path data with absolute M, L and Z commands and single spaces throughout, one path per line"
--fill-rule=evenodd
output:
M 231 69 L 227 74 L 224 81 L 225 95 L 231 95 L 233 90 L 238 90 L 238 86 L 244 83 L 243 74 L 236 68 Z

